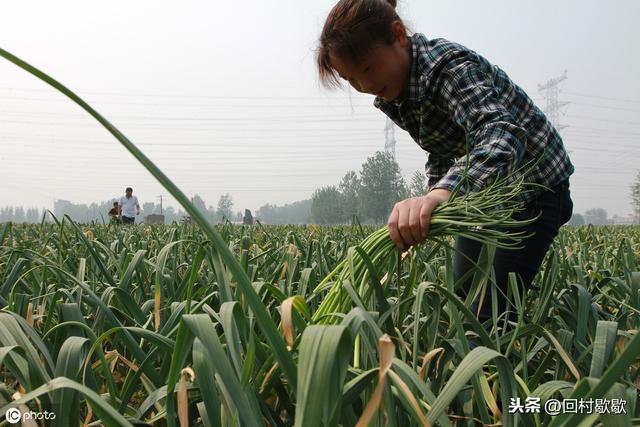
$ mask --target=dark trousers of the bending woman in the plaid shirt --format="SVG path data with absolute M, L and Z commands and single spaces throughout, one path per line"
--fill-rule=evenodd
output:
M 540 217 L 533 223 L 523 227 L 526 234 L 531 237 L 523 241 L 522 249 L 496 249 L 493 267 L 495 271 L 496 286 L 498 289 L 498 316 L 511 312 L 515 308 L 507 305 L 507 288 L 509 272 L 514 272 L 519 284 L 523 284 L 529 289 L 531 281 L 540 270 L 540 265 L 544 259 L 553 239 L 558 235 L 560 226 L 571 218 L 573 212 L 573 202 L 569 192 L 569 180 L 566 180 L 555 187 L 541 193 L 535 200 L 529 202 L 522 212 L 514 215 L 515 219 L 529 219 L 540 213 Z M 456 239 L 456 255 L 454 258 L 454 277 L 461 278 L 465 272 L 475 268 L 474 264 L 467 259 L 477 262 L 482 244 L 475 240 L 466 238 Z M 470 276 L 473 276 L 470 274 Z M 461 287 L 463 292 L 468 292 L 471 288 L 472 277 L 469 277 Z M 487 284 L 487 291 L 484 295 L 482 306 L 478 314 L 480 297 L 478 296 L 471 305 L 471 311 L 478 315 L 478 320 L 482 323 L 491 319 L 491 283 Z M 510 313 L 509 319 L 515 320 L 515 314 Z

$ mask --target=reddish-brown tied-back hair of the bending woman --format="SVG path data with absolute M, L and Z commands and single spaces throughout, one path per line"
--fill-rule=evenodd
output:
M 330 54 L 361 60 L 377 44 L 392 44 L 391 24 L 400 21 L 396 0 L 340 0 L 329 12 L 320 35 L 317 61 L 320 81 L 339 85 Z

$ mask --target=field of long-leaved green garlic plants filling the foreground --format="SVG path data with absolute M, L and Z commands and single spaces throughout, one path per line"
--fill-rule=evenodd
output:
M 3 419 L 17 408 L 52 426 L 638 421 L 637 226 L 563 227 L 533 288 L 511 283 L 517 321 L 486 325 L 468 307 L 490 269 L 459 289 L 446 237 L 372 261 L 358 246 L 370 226 L 216 231 L 224 246 L 191 225 L 0 224 Z M 341 265 L 346 303 L 319 311 Z

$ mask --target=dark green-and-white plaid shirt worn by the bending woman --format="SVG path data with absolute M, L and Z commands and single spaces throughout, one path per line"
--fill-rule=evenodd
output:
M 498 176 L 515 178 L 536 160 L 527 182 L 553 187 L 573 173 L 556 129 L 504 71 L 444 39 L 414 34 L 410 41 L 406 91 L 394 101 L 377 97 L 374 105 L 428 152 L 430 189 L 453 191 L 468 168 L 460 191 L 477 191 Z M 520 198 L 535 198 L 541 190 L 533 188 Z

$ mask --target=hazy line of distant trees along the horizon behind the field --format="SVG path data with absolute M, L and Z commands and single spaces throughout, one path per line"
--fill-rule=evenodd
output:
M 630 187 L 631 205 L 640 220 L 640 171 Z M 318 188 L 311 199 L 287 203 L 282 206 L 265 204 L 253 213 L 254 218 L 265 224 L 344 224 L 354 216 L 361 222 L 383 223 L 393 205 L 407 197 L 426 194 L 427 183 L 424 171 L 415 171 L 407 183 L 400 166 L 388 152 L 378 151 L 368 157 L 359 172 L 348 171 L 336 185 Z M 79 204 L 66 200 L 54 203 L 53 213 L 61 218 L 69 215 L 77 222 L 108 222 L 107 212 L 116 199 L 100 203 Z M 220 196 L 217 206 L 207 207 L 204 199 L 194 195 L 192 202 L 212 223 L 225 220 L 242 221 L 242 212 L 233 212 L 233 199 L 229 193 Z M 145 202 L 141 205 L 141 219 L 150 214 L 159 214 L 160 205 Z M 47 209 L 5 206 L 0 208 L 0 222 L 37 223 L 47 218 Z M 186 213 L 172 206 L 164 206 L 165 223 L 180 222 Z M 575 213 L 570 224 L 608 224 L 610 220 L 603 208 L 589 209 L 583 214 Z

